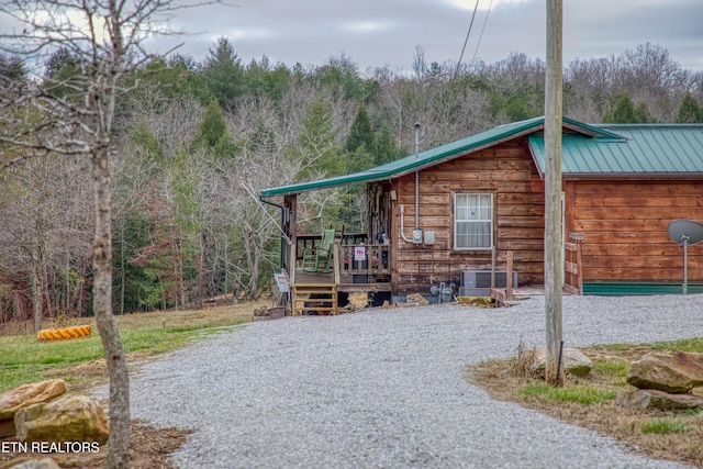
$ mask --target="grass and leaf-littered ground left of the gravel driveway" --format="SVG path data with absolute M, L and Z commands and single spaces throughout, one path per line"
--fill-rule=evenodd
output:
M 242 327 L 252 321 L 254 309 L 260 303 L 243 303 L 199 311 L 168 311 L 125 314 L 116 316 L 127 366 L 158 354 L 174 350 L 210 334 Z M 67 324 L 58 323 L 62 327 Z M 100 334 L 93 319 L 76 320 L 70 325 L 90 324 L 92 336 L 71 340 L 38 342 L 30 334 L 32 325 L 14 325 L 16 335 L 0 336 L 0 392 L 18 386 L 62 378 L 68 393 L 81 393 L 88 388 L 108 381 L 108 371 Z M 46 321 L 44 328 L 51 328 Z M 12 324 L 11 324 L 12 326 Z M 3 328 L 7 334 L 8 328 Z M 130 465 L 133 468 L 171 468 L 168 456 L 178 450 L 190 432 L 182 428 L 154 428 L 148 422 L 132 421 Z M 107 448 L 98 453 L 53 455 L 60 467 L 99 469 L 104 467 Z M 0 455 L 0 468 L 30 457 L 45 454 Z M 10 462 L 12 461 L 12 462 Z

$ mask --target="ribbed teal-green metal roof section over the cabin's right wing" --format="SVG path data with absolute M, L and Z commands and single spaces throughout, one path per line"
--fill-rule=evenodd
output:
M 561 171 L 589 175 L 702 175 L 702 124 L 599 124 L 621 138 L 590 138 L 565 132 Z M 542 133 L 529 135 L 539 171 L 545 168 Z

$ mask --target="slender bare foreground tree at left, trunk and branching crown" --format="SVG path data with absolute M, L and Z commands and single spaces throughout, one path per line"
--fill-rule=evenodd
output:
M 0 142 L 85 155 L 91 161 L 96 214 L 93 311 L 110 373 L 108 468 L 130 465 L 130 380 L 112 314 L 110 180 L 116 152 L 115 102 L 133 89 L 125 83 L 149 59 L 144 51 L 145 40 L 165 33 L 156 22 L 167 20 L 178 8 L 182 4 L 175 0 L 5 0 L 0 4 L 0 14 L 21 29 L 0 35 L 2 51 L 35 60 L 60 46 L 78 64 L 76 72 L 67 77 L 14 90 L 2 87 L 0 99 L 5 109 L 32 112 L 3 113 L 3 127 L 18 132 L 0 136 Z M 23 120 L 30 114 L 32 120 Z

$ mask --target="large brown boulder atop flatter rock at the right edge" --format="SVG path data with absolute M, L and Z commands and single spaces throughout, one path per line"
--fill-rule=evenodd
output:
M 703 354 L 652 351 L 633 361 L 627 382 L 639 389 L 658 389 L 673 394 L 703 386 Z

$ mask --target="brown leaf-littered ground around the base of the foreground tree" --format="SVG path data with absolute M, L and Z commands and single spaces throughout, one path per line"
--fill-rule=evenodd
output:
M 168 460 L 177 451 L 190 432 L 178 428 L 154 428 L 145 422 L 132 421 L 130 439 L 130 467 L 132 469 L 171 469 Z M 68 455 L 51 454 L 0 454 L 0 469 L 8 468 L 27 458 L 43 459 L 52 457 L 62 468 L 102 469 L 108 454 L 108 445 L 97 453 L 76 453 Z

